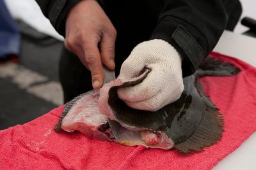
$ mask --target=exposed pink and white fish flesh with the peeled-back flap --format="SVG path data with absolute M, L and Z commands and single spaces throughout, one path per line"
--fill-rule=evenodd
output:
M 173 147 L 172 139 L 161 132 L 150 131 L 132 127 L 118 122 L 111 107 L 108 104 L 109 89 L 123 85 L 129 81 L 140 80 L 146 72 L 131 80 L 116 78 L 106 83 L 100 90 L 92 90 L 76 97 L 66 105 L 65 117 L 61 122 L 61 129 L 67 132 L 79 131 L 88 138 L 102 141 L 115 141 L 122 145 L 144 145 L 150 148 L 170 149 Z M 108 118 L 115 120 L 116 127 L 109 127 Z M 116 135 L 113 135 L 115 131 Z

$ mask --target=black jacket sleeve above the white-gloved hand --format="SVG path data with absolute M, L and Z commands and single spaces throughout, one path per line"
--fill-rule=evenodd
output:
M 236 0 L 164 0 L 151 39 L 164 39 L 180 52 L 192 74 L 223 33 Z M 186 76 L 185 75 L 185 76 Z

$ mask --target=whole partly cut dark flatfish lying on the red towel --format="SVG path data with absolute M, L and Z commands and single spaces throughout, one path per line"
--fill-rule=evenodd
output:
M 131 80 L 116 78 L 67 103 L 57 130 L 80 131 L 90 138 L 122 145 L 144 145 L 179 152 L 202 151 L 221 139 L 223 118 L 204 94 L 202 76 L 233 76 L 239 69 L 208 57 L 195 74 L 183 79 L 184 91 L 174 103 L 158 111 L 134 110 L 117 95 L 122 87 L 143 81 L 150 69 Z

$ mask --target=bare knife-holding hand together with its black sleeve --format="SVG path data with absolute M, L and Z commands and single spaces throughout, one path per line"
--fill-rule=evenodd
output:
M 116 30 L 100 0 L 37 0 L 45 17 L 65 37 L 65 47 L 75 53 L 92 74 L 93 89 L 104 81 L 102 64 L 115 69 Z

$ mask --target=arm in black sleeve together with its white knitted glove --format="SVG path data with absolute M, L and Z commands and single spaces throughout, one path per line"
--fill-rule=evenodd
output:
M 164 0 L 151 40 L 137 45 L 124 61 L 120 78 L 132 78 L 148 67 L 140 84 L 118 89 L 125 103 L 140 110 L 159 110 L 179 99 L 182 76 L 195 72 L 224 31 L 234 0 Z

